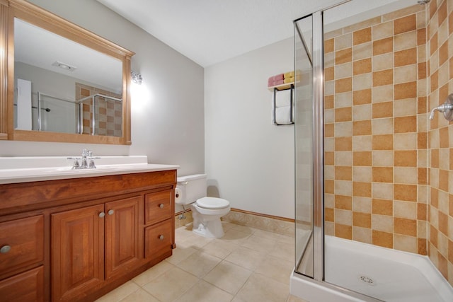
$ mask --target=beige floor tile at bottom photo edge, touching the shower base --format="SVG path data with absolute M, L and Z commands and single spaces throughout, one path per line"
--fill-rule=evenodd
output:
M 252 274 L 247 283 L 236 295 L 239 301 L 286 302 L 289 286 L 261 274 Z M 234 300 L 235 301 L 235 300 Z

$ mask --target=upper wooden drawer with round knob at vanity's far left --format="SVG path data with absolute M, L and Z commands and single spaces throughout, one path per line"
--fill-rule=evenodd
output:
M 3 248 L 0 252 L 0 272 L 42 261 L 44 216 L 0 223 L 0 248 Z

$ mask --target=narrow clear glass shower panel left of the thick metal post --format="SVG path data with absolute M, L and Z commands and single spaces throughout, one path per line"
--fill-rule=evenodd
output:
M 306 16 L 294 21 L 295 83 L 295 218 L 296 272 L 314 277 L 313 190 L 313 64 L 312 23 Z

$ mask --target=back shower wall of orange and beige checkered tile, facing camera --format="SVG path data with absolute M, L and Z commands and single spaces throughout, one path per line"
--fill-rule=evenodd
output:
M 425 8 L 325 35 L 326 233 L 426 255 Z

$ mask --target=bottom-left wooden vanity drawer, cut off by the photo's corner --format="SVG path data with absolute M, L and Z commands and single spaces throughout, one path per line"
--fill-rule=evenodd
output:
M 0 281 L 1 301 L 44 301 L 44 269 L 37 267 Z

